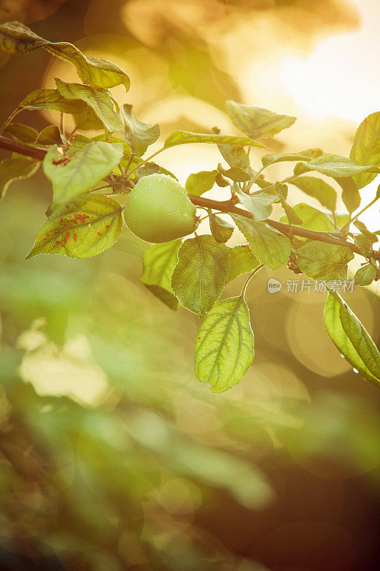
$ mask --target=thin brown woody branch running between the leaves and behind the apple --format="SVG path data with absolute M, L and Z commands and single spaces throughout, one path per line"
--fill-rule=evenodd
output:
M 33 147 L 31 145 L 26 145 L 24 143 L 19 143 L 19 141 L 13 141 L 10 138 L 0 135 L 0 148 L 6 149 L 6 151 L 12 151 L 14 153 L 19 153 L 21 155 L 30 156 L 31 158 L 37 158 L 39 161 L 43 161 L 47 151 L 45 148 Z M 130 173 L 128 173 L 130 174 Z M 214 201 L 212 198 L 204 198 L 203 196 L 195 196 L 189 194 L 190 201 L 192 201 L 195 206 L 202 206 L 204 208 L 215 208 L 221 212 L 240 214 L 240 216 L 245 216 L 245 218 L 252 218 L 252 214 L 248 211 L 242 210 L 242 208 L 237 208 L 232 201 Z M 275 230 L 282 232 L 283 234 L 289 236 L 290 226 L 289 224 L 284 224 L 283 222 L 277 222 L 275 220 L 265 220 L 268 226 L 271 226 Z M 360 248 L 351 242 L 347 242 L 342 238 L 333 236 L 329 232 L 319 232 L 316 230 L 309 230 L 308 228 L 300 228 L 299 226 L 292 226 L 292 233 L 294 236 L 302 236 L 302 238 L 309 238 L 309 240 L 315 240 L 318 242 L 325 242 L 329 244 L 336 244 L 337 246 L 344 246 L 349 248 L 352 252 L 356 254 L 361 254 Z M 375 260 L 380 261 L 380 252 L 374 250 L 371 251 L 371 256 Z

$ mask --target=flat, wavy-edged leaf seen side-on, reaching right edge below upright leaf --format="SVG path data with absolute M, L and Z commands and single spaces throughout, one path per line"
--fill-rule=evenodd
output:
M 349 158 L 340 155 L 323 154 L 306 163 L 302 161 L 294 168 L 294 174 L 302 174 L 307 171 L 317 171 L 333 178 L 354 176 L 360 173 L 379 173 L 380 167 L 375 165 L 358 165 Z

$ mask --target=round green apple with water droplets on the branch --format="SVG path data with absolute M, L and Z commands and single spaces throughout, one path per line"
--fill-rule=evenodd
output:
M 140 178 L 124 207 L 128 228 L 146 242 L 170 242 L 188 236 L 199 225 L 185 188 L 166 174 Z

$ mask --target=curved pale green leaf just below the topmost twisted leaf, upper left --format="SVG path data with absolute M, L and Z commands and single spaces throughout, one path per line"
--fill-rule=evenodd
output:
M 66 84 L 58 77 L 55 79 L 59 94 L 68 100 L 84 101 L 91 107 L 107 131 L 113 133 L 123 129 L 120 113 L 116 113 L 113 98 L 106 89 L 94 89 L 81 84 Z

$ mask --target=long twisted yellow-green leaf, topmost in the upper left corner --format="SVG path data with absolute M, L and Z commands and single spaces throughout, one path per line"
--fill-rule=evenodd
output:
M 96 88 L 123 84 L 127 91 L 129 89 L 130 81 L 127 74 L 111 61 L 87 57 L 76 46 L 65 41 L 47 41 L 20 22 L 6 22 L 0 25 L 0 51 L 20 56 L 38 48 L 46 49 L 54 56 L 73 64 L 83 84 L 90 84 Z

